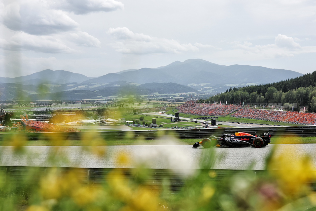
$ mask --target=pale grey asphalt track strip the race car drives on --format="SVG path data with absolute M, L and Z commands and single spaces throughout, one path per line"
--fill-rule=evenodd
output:
M 150 168 L 191 170 L 200 168 L 201 161 L 215 169 L 264 169 L 264 160 L 276 148 L 276 155 L 288 152 L 288 162 L 308 154 L 316 170 L 316 144 L 271 144 L 264 148 L 192 148 L 191 145 L 145 146 L 27 146 L 25 154 L 15 153 L 13 147 L 0 147 L 1 166 L 60 166 L 82 168 L 133 168 L 139 164 Z M 102 152 L 105 152 L 102 154 Z M 95 153 L 99 153 L 100 156 Z M 119 163 L 119 155 L 127 163 Z M 49 161 L 54 158 L 54 162 Z M 212 158 L 214 158 L 212 160 Z M 220 158 L 221 157 L 221 158 Z M 52 160 L 52 159 L 50 159 Z M 213 163 L 214 165 L 210 166 Z

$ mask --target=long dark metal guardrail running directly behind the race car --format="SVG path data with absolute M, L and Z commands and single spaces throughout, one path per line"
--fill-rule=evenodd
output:
M 316 126 L 283 126 L 283 127 L 251 127 L 251 128 L 208 128 L 208 129 L 174 129 L 174 130 L 135 130 L 135 131 L 96 131 L 96 132 L 53 132 L 53 133 L 2 133 L 0 141 L 7 141 L 16 138 L 26 140 L 82 140 L 88 138 L 93 140 L 103 138 L 104 140 L 135 140 L 135 139 L 156 139 L 162 135 L 184 138 L 205 138 L 211 135 L 222 136 L 234 134 L 237 131 L 247 132 L 252 135 L 259 135 L 269 132 L 272 137 L 283 136 L 316 136 Z

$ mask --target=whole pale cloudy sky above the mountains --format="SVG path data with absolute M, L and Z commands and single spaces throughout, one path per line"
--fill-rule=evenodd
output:
M 316 70 L 314 0 L 0 0 L 4 77 L 100 76 L 201 58 Z

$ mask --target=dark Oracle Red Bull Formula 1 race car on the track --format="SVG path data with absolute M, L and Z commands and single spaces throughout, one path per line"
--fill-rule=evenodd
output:
M 252 136 L 249 133 L 236 132 L 235 135 L 225 134 L 218 138 L 210 136 L 210 138 L 204 138 L 200 142 L 195 142 L 193 147 L 210 148 L 216 147 L 264 147 L 270 143 L 271 134 L 262 133 L 259 136 Z

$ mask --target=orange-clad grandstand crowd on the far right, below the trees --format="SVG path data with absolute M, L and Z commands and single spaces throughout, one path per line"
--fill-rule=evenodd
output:
M 316 124 L 316 113 L 288 112 L 264 109 L 243 108 L 231 115 L 232 117 L 250 117 L 270 121 L 285 121 L 304 124 Z

